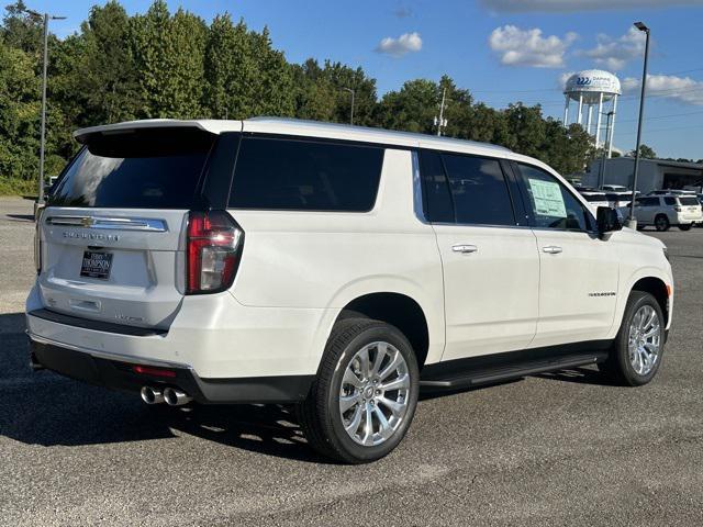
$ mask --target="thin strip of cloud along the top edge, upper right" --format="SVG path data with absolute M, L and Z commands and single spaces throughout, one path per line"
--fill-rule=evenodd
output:
M 671 8 L 703 5 L 703 0 L 481 0 L 484 8 L 495 12 L 579 12 L 613 9 Z

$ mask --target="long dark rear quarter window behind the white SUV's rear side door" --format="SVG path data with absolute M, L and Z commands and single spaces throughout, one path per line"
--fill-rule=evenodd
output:
M 246 137 L 230 206 L 365 212 L 373 208 L 383 148 Z

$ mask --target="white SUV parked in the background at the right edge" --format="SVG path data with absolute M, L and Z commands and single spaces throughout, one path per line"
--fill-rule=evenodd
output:
M 689 231 L 703 222 L 701 203 L 693 195 L 645 195 L 635 200 L 638 226 L 654 225 L 657 231 L 668 231 L 672 225 Z

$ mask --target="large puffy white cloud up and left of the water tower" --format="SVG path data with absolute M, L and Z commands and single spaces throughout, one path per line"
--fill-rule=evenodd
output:
M 489 45 L 506 66 L 533 66 L 536 68 L 560 68 L 563 54 L 578 38 L 569 32 L 563 38 L 556 35 L 542 36 L 542 30 L 521 30 L 514 25 L 496 27 L 489 37 Z

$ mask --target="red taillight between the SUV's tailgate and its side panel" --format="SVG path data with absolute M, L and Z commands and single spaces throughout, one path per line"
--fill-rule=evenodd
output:
M 234 282 L 244 231 L 223 211 L 196 212 L 188 217 L 186 293 L 216 293 Z

